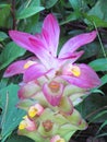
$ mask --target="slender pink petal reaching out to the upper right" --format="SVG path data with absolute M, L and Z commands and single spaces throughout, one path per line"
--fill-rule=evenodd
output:
M 84 46 L 91 42 L 93 42 L 96 37 L 96 31 L 93 31 L 91 33 L 81 34 L 78 35 L 71 39 L 69 39 L 63 47 L 61 48 L 59 52 L 59 58 L 68 57 L 68 55 L 71 52 L 74 52 L 78 48 L 81 46 Z

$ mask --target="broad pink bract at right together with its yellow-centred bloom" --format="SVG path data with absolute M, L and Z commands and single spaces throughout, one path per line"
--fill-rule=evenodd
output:
M 94 70 L 84 64 L 68 64 L 64 66 L 66 71 L 62 69 L 62 78 L 69 83 L 83 88 L 93 88 L 100 84 L 100 81 Z

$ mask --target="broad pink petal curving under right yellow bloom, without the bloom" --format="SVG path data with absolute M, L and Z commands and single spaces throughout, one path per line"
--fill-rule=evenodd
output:
M 78 66 L 81 70 L 80 76 L 73 76 L 73 75 L 62 75 L 64 80 L 67 80 L 69 83 L 74 84 L 79 87 L 83 88 L 93 88 L 100 84 L 100 80 L 98 75 L 95 73 L 95 71 L 90 68 L 88 66 L 82 63 Z

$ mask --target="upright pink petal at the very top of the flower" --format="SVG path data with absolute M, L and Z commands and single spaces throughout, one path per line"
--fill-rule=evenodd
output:
M 59 44 L 60 28 L 56 17 L 52 14 L 48 14 L 43 24 L 43 36 L 47 43 L 47 48 L 50 54 L 56 57 L 57 48 Z

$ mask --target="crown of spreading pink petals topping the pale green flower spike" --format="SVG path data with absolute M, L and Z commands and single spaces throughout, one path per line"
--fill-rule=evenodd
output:
M 47 75 L 48 78 L 60 75 L 69 83 L 80 87 L 92 88 L 99 85 L 99 78 L 88 66 L 74 64 L 74 61 L 83 55 L 83 51 L 76 50 L 95 39 L 95 31 L 70 38 L 62 46 L 59 55 L 57 55 L 57 51 L 60 28 L 52 14 L 46 16 L 40 34 L 31 35 L 10 31 L 9 35 L 19 46 L 33 52 L 38 60 L 16 61 L 7 69 L 4 76 L 23 73 L 23 81 L 27 83 L 41 75 Z

